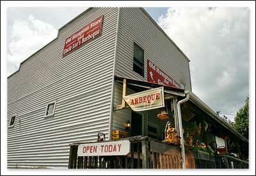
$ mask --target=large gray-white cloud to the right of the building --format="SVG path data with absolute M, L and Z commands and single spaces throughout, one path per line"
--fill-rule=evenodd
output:
M 236 114 L 248 95 L 249 9 L 174 7 L 159 25 L 191 60 L 193 92 L 214 111 Z

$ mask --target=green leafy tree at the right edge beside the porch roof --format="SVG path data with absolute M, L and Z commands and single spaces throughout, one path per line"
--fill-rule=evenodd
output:
M 246 97 L 245 105 L 236 113 L 235 129 L 248 139 L 249 136 L 249 97 Z

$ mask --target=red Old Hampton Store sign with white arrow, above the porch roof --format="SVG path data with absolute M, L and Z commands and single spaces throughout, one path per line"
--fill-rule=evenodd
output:
M 156 83 L 164 86 L 171 86 L 174 88 L 180 88 L 180 85 L 176 83 L 170 76 L 165 74 L 159 67 L 157 67 L 152 61 L 148 60 L 148 82 Z

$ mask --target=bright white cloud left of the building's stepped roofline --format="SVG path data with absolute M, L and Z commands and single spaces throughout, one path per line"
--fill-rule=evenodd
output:
M 7 75 L 19 69 L 20 62 L 56 38 L 57 29 L 29 15 L 28 20 L 15 20 L 8 45 Z

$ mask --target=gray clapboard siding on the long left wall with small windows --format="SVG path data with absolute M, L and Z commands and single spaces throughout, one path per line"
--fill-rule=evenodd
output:
M 62 58 L 65 39 L 104 15 L 102 35 Z M 67 168 L 69 144 L 109 134 L 118 8 L 91 8 L 8 77 L 8 168 Z M 56 100 L 54 116 L 44 118 Z M 19 120 L 20 119 L 20 123 Z M 8 125 L 8 124 L 7 124 Z

